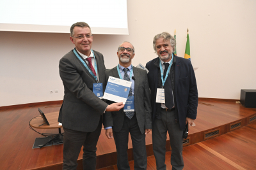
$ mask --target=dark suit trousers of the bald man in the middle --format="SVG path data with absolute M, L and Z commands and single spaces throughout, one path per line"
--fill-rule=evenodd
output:
M 129 132 L 132 138 L 132 151 L 134 157 L 134 170 L 147 169 L 147 152 L 145 143 L 145 134 L 141 134 L 136 114 L 131 118 L 124 118 L 124 124 L 119 132 L 113 131 L 117 152 L 118 170 L 129 170 L 128 162 L 128 140 Z

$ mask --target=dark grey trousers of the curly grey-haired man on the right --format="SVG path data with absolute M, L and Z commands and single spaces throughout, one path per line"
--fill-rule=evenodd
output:
M 175 122 L 175 111 L 166 111 L 161 109 L 161 119 L 156 118 L 152 127 L 153 151 L 156 158 L 157 170 L 166 169 L 166 164 L 164 164 L 164 162 L 167 131 L 169 133 L 170 144 L 172 147 L 172 169 L 183 169 L 183 131 L 180 129 L 179 122 Z

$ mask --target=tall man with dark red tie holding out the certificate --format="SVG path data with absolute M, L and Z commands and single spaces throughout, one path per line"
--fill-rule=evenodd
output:
M 76 169 L 83 146 L 83 168 L 93 170 L 96 169 L 96 145 L 102 115 L 105 111 L 118 111 L 124 104 L 108 105 L 93 92 L 93 85 L 105 87 L 106 68 L 103 55 L 91 50 L 93 36 L 90 26 L 77 22 L 71 26 L 70 34 L 76 48 L 64 55 L 59 65 L 65 94 L 58 118 L 65 131 L 63 169 Z

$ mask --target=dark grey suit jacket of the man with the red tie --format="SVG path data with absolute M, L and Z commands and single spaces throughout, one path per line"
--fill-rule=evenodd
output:
M 93 52 L 97 61 L 99 80 L 105 87 L 106 67 L 103 55 L 94 50 Z M 59 68 L 64 85 L 64 99 L 58 122 L 61 122 L 63 127 L 74 131 L 95 131 L 102 113 L 108 106 L 92 92 L 93 83 L 97 81 L 77 59 L 73 50 L 60 59 Z

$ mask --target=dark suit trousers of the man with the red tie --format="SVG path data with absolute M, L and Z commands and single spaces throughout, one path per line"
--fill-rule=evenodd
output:
M 83 169 L 96 169 L 96 150 L 97 142 L 102 127 L 102 117 L 100 117 L 99 125 L 93 132 L 80 132 L 64 128 L 64 146 L 63 146 L 63 169 L 76 169 L 77 158 L 83 148 Z

